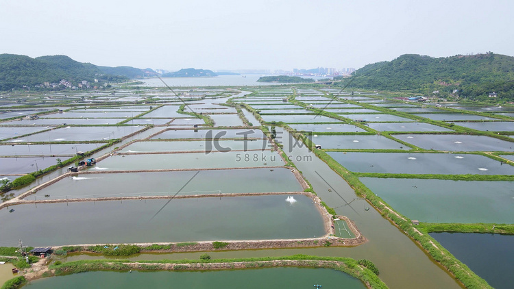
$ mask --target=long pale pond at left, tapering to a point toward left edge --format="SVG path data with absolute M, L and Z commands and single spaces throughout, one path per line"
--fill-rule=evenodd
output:
M 60 142 L 60 141 L 86 141 L 86 140 L 112 140 L 123 138 L 135 133 L 142 126 L 109 126 L 109 127 L 62 127 L 51 131 L 40 132 L 31 136 L 24 136 L 12 142 Z

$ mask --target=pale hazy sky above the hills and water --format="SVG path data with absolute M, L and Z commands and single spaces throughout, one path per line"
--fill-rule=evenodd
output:
M 514 55 L 514 1 L 0 0 L 0 53 L 178 70 Z

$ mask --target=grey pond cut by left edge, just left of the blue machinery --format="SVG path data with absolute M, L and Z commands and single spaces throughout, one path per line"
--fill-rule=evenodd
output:
M 57 164 L 59 157 L 45 158 L 0 158 L 0 174 L 33 173 Z M 66 158 L 61 158 L 65 160 Z

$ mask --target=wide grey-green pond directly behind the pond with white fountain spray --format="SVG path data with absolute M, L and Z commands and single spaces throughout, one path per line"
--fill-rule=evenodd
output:
M 191 179 L 189 183 L 186 182 Z M 148 186 L 151 184 L 151 186 Z M 184 186 L 185 185 L 185 186 Z M 182 188 L 184 186 L 184 188 Z M 178 192 L 180 189 L 182 190 Z M 247 192 L 303 191 L 288 168 L 172 171 L 151 173 L 95 173 L 66 177 L 38 190 L 36 199 L 94 197 L 179 196 Z M 45 197 L 49 194 L 50 197 Z M 28 199 L 33 199 L 31 195 Z

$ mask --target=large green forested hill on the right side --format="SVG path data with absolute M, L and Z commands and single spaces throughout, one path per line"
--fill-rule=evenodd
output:
M 406 54 L 358 69 L 352 86 L 424 95 L 439 90 L 443 97 L 458 90 L 454 95 L 469 99 L 485 99 L 489 92 L 497 92 L 498 99 L 513 101 L 514 58 L 494 53 L 448 58 Z

